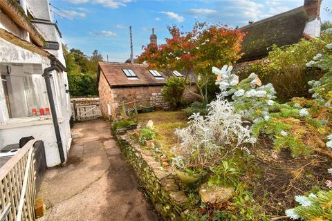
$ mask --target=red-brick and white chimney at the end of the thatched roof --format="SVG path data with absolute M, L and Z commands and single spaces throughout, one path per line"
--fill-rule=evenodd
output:
M 303 8 L 308 15 L 308 21 L 304 27 L 303 36 L 307 39 L 320 37 L 320 4 L 321 0 L 304 0 Z

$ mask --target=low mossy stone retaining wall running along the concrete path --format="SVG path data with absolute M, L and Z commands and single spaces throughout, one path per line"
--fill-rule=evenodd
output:
M 132 134 L 133 131 L 127 131 L 114 137 L 156 210 L 165 220 L 187 220 L 187 196 L 179 189 L 174 171 L 161 166 L 151 151 L 142 149 L 130 138 Z

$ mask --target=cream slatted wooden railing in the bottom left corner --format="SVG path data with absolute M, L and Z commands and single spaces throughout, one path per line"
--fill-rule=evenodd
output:
M 0 168 L 0 220 L 35 220 L 35 169 L 30 140 Z

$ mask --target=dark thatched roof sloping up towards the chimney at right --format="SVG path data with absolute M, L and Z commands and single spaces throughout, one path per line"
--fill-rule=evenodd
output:
M 259 59 L 268 55 L 270 46 L 286 46 L 297 43 L 304 32 L 308 15 L 304 6 L 295 8 L 243 28 L 241 61 Z

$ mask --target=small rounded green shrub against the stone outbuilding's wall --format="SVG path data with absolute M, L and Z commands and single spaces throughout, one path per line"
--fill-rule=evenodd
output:
M 163 98 L 173 109 L 181 106 L 183 91 L 185 90 L 185 79 L 183 77 L 169 77 L 163 86 Z

